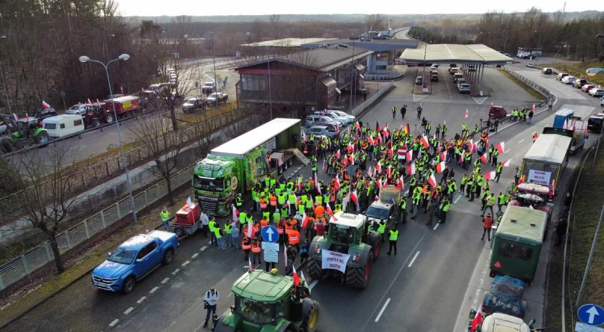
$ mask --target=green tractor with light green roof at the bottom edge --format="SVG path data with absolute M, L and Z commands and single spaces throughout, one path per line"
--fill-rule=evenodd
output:
M 215 331 L 316 331 L 320 305 L 310 298 L 306 283 L 294 286 L 292 276 L 249 271 L 237 279 L 231 291 L 235 305 Z

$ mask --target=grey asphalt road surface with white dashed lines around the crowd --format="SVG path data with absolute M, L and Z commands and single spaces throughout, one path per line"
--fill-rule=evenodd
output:
M 514 69 L 541 80 L 539 83 L 551 87 L 554 94 L 575 95 L 572 88 L 561 85 L 551 76 L 540 76 L 535 69 L 521 65 Z M 441 75 L 449 78 L 448 74 Z M 406 77 L 396 81 L 396 89 L 361 120 L 369 121 L 372 126 L 379 121 L 382 127 L 388 121 L 390 128 L 410 123 L 411 130 L 414 130 L 414 125 L 419 124 L 414 109 L 422 103 L 422 115 L 434 121 L 433 127 L 446 120 L 449 136 L 452 136 L 459 132 L 466 109 L 470 115 L 466 121 L 471 129 L 480 117 L 486 115 L 491 102 L 506 108 L 530 106 L 535 102 L 495 70 L 487 70 L 484 75 L 485 85 L 491 85 L 493 91 L 500 91 L 484 100 L 449 94 L 444 81 L 436 83 L 438 86 L 434 85 L 433 94 L 428 97 L 413 95 L 413 78 Z M 496 86 L 500 89 L 495 89 Z M 594 110 L 600 108 L 596 98 L 580 97 L 583 96 L 559 99 L 554 110 L 562 104 L 597 106 Z M 393 120 L 391 107 L 402 104 L 408 105 L 407 117 L 402 120 L 397 113 Z M 533 122 L 538 123 L 533 126 L 524 123 L 500 126 L 502 131 L 493 135 L 492 142 L 506 141 L 506 152 L 500 156 L 500 161 L 512 159 L 512 165 L 504 168 L 499 183 L 492 184 L 492 192 L 503 191 L 512 181 L 513 170 L 520 165 L 530 146 L 527 144 L 530 132 L 539 131 L 540 126 L 550 123 L 552 117 L 553 113 L 543 112 L 533 118 Z M 295 164 L 289 168 L 286 176 L 297 173 L 299 167 Z M 448 167 L 454 168 L 457 180 L 463 176 L 456 165 L 449 163 Z M 485 165 L 483 169 L 490 171 L 493 167 Z M 307 168 L 301 171 L 309 175 Z M 321 174 L 321 177 L 327 180 L 327 176 Z M 318 283 L 309 279 L 313 286 L 312 296 L 321 303 L 321 331 L 451 331 L 454 328 L 458 315 L 466 310 L 460 307 L 471 290 L 472 273 L 480 267 L 477 262 L 481 252 L 488 247 L 487 241 L 480 240 L 480 200 L 467 202 L 455 194 L 446 224 L 429 228 L 424 223 L 425 215 L 420 213 L 417 220 L 400 226 L 400 255 L 388 257 L 382 253 L 372 267 L 370 284 L 363 291 L 346 289 L 335 279 Z M 160 267 L 147 276 L 132 294 L 99 292 L 86 276 L 5 330 L 106 331 L 111 324 L 123 331 L 205 330 L 200 328 L 205 318 L 204 293 L 210 287 L 216 287 L 222 294 L 217 313 L 224 313 L 233 304 L 233 297 L 229 296 L 230 287 L 245 265 L 241 252 L 234 252 L 231 248 L 217 251 L 209 246 L 203 235 L 195 234 L 181 241 L 181 248 L 171 266 Z M 283 270 L 282 263 L 278 266 Z M 304 274 L 308 278 L 307 273 Z M 353 308 L 354 314 L 346 311 L 349 308 Z

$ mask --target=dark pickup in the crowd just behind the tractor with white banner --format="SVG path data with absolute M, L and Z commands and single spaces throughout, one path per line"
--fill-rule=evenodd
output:
M 371 203 L 365 211 L 369 222 L 379 222 L 386 220 L 387 228 L 396 225 L 401 216 L 399 208 L 400 189 L 393 185 L 382 187 L 379 191 L 379 199 Z

